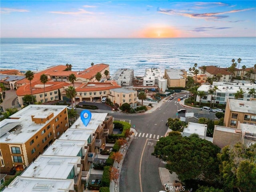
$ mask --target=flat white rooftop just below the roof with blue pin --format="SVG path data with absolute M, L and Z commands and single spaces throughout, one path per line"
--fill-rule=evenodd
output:
M 87 141 L 88 138 L 93 134 L 94 132 L 90 129 L 67 129 L 66 132 L 64 132 L 59 139 L 60 140 L 78 140 L 78 141 Z M 92 138 L 91 138 L 92 139 Z

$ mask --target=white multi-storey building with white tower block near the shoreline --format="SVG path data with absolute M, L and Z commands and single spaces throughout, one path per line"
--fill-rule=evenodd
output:
M 164 76 L 159 68 L 148 68 L 145 70 L 143 86 L 152 88 L 158 86 L 160 92 L 164 92 L 167 88 L 167 81 L 164 79 Z

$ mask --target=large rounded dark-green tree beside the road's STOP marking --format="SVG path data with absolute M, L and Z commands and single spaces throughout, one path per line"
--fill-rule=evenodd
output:
M 166 168 L 181 181 L 204 179 L 211 183 L 218 176 L 218 152 L 220 148 L 207 140 L 174 135 L 160 138 L 152 155 L 166 161 Z

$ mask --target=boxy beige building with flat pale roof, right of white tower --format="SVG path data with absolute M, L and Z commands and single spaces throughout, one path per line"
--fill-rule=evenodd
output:
M 164 77 L 168 87 L 185 87 L 187 72 L 184 69 L 165 69 Z

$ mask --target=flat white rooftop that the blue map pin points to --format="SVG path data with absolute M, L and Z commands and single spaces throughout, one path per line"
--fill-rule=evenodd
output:
M 76 122 L 70 127 L 71 129 L 88 129 L 91 132 L 95 132 L 99 125 L 103 124 L 103 121 L 108 116 L 108 113 L 92 113 L 92 118 L 87 126 L 85 126 L 79 117 Z

